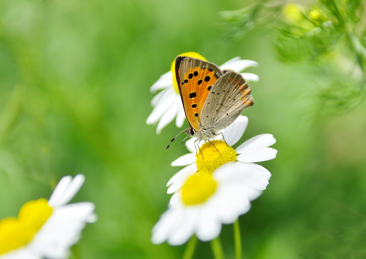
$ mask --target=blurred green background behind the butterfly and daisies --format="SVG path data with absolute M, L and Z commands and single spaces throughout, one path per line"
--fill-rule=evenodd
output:
M 304 1 L 302 1 L 305 3 Z M 268 188 L 240 217 L 243 258 L 366 258 L 366 105 L 309 119 L 311 67 L 276 59 L 268 27 L 223 41 L 217 13 L 237 0 L 1 0 L 0 218 L 48 198 L 64 175 L 85 174 L 72 202 L 96 204 L 74 258 L 181 258 L 184 245 L 150 243 L 167 209 L 165 184 L 187 150 L 164 151 L 179 130 L 155 134 L 149 87 L 176 55 L 223 64 L 255 60 L 255 105 L 238 142 L 275 136 L 262 162 Z M 311 3 L 308 3 L 311 4 Z M 310 94 L 311 96 L 311 94 Z M 311 117 L 311 115 L 310 115 Z M 187 122 L 186 124 L 187 125 Z M 234 256 L 232 227 L 221 239 Z M 199 242 L 194 258 L 212 258 Z

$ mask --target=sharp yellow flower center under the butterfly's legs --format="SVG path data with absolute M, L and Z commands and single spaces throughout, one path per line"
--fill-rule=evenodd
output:
M 235 150 L 223 140 L 213 140 L 211 142 L 212 144 L 210 142 L 203 144 L 201 147 L 202 155 L 198 153 L 196 156 L 197 169 L 200 173 L 213 173 L 220 166 L 236 161 Z M 220 154 L 215 147 L 220 151 Z

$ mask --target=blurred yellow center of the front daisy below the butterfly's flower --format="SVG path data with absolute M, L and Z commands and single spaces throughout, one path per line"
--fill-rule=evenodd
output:
M 205 202 L 217 188 L 217 182 L 209 173 L 195 173 L 188 177 L 182 187 L 182 202 L 197 205 Z

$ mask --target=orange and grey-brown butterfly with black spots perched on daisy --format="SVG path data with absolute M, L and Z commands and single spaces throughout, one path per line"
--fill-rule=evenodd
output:
M 186 138 L 194 136 L 196 141 L 210 142 L 209 139 L 222 134 L 222 129 L 233 123 L 245 108 L 254 104 L 249 83 L 234 70 L 221 70 L 209 61 L 177 56 L 175 75 L 190 125 L 179 134 L 186 132 Z

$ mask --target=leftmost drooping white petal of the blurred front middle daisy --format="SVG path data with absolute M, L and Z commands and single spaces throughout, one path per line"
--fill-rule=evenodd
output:
M 170 207 L 165 211 L 152 229 L 151 242 L 161 244 L 168 239 L 172 231 L 183 221 L 184 208 L 180 206 Z

